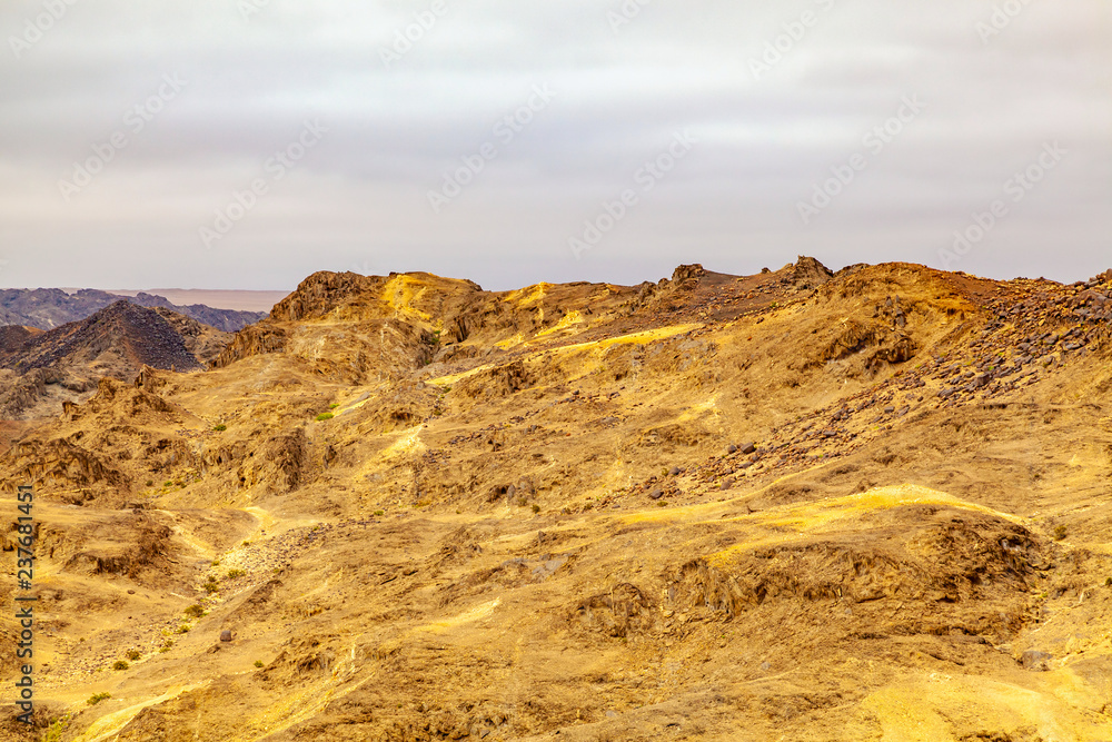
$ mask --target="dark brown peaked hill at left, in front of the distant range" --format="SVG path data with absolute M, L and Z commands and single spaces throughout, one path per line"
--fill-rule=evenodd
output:
M 50 330 L 0 327 L 0 417 L 57 415 L 101 378 L 131 382 L 145 366 L 189 372 L 215 359 L 229 333 L 165 307 L 125 300 Z

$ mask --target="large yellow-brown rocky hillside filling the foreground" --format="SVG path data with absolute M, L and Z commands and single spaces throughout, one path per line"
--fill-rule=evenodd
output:
M 10 435 L 41 664 L 6 733 L 1112 739 L 1110 296 L 316 274 Z

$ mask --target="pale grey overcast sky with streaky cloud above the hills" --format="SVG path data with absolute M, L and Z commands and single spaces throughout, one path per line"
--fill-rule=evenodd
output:
M 0 286 L 1112 267 L 1108 0 L 7 0 Z

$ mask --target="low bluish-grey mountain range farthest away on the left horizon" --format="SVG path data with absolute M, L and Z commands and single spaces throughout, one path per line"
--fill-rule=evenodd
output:
M 121 299 L 142 307 L 165 307 L 225 333 L 235 333 L 267 316 L 262 311 L 214 309 L 202 304 L 181 307 L 166 297 L 145 293 L 131 297 L 91 288 L 75 294 L 60 288 L 8 288 L 0 289 L 0 325 L 53 329 L 85 319 Z

